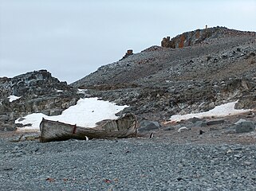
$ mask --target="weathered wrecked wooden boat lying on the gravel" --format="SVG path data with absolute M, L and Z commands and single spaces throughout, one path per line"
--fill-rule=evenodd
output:
M 128 138 L 136 136 L 136 115 L 127 113 L 118 119 L 107 119 L 96 123 L 96 127 L 79 127 L 42 119 L 40 123 L 40 142 L 63 141 L 69 138 Z

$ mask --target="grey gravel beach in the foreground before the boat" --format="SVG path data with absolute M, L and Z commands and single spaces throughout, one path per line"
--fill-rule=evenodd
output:
M 1 190 L 256 190 L 256 146 L 168 138 L 10 142 Z

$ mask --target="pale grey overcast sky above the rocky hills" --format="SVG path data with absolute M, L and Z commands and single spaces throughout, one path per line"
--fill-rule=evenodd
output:
M 256 0 L 0 0 L 0 76 L 68 83 L 205 25 L 256 31 Z

